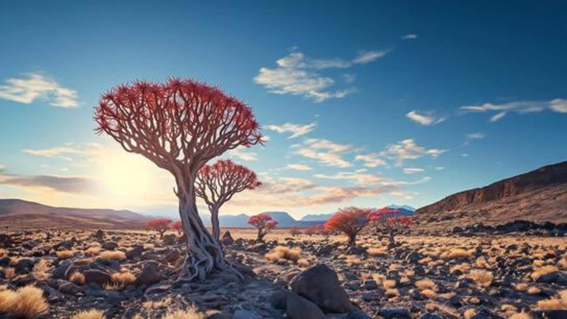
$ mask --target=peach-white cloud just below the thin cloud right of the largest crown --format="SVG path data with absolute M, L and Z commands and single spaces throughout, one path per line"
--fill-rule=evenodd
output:
M 352 152 L 351 145 L 338 144 L 329 140 L 310 138 L 303 142 L 295 154 L 317 159 L 325 166 L 350 167 L 353 166 L 342 158 L 342 154 Z

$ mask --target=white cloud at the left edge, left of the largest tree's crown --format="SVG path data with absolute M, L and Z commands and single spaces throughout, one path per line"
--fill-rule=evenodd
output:
M 10 78 L 0 85 L 0 98 L 29 104 L 36 99 L 50 101 L 50 105 L 63 108 L 79 106 L 77 91 L 62 87 L 54 79 L 29 73 L 27 78 Z

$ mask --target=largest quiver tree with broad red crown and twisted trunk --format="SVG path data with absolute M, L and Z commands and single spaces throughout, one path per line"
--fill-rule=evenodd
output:
M 217 87 L 170 78 L 164 84 L 136 81 L 111 89 L 101 97 L 94 119 L 96 132 L 174 176 L 189 279 L 234 271 L 198 215 L 194 181 L 210 159 L 263 142 L 252 110 Z

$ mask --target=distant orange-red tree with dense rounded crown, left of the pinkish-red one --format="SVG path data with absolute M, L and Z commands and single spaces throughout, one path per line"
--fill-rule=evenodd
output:
M 371 211 L 370 208 L 341 208 L 335 215 L 327 220 L 325 229 L 345 233 L 349 238 L 349 246 L 354 246 L 357 234 L 367 224 L 366 215 Z

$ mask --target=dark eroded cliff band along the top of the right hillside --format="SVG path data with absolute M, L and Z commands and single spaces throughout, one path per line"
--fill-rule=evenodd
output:
M 417 209 L 416 215 L 433 215 L 456 209 L 464 209 L 506 198 L 529 193 L 539 188 L 567 183 L 567 161 L 541 167 L 526 174 L 503 179 L 482 188 L 459 192 L 439 202 Z

